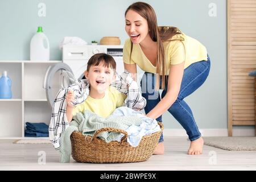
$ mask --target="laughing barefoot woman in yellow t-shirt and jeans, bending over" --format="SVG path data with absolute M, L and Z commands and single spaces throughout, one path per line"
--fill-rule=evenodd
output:
M 147 117 L 162 121 L 167 110 L 187 131 L 191 145 L 188 154 L 203 152 L 204 140 L 192 111 L 183 100 L 206 80 L 210 70 L 207 49 L 176 27 L 158 27 L 154 9 L 135 2 L 125 12 L 125 30 L 129 35 L 123 48 L 125 69 L 136 79 L 138 66 L 145 72 L 142 96 Z M 162 100 L 159 89 L 163 89 Z M 163 136 L 154 154 L 164 154 Z

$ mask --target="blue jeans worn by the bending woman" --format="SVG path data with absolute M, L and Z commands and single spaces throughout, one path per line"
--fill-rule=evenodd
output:
M 193 117 L 192 110 L 188 104 L 183 100 L 189 96 L 207 79 L 210 71 L 210 58 L 208 56 L 207 61 L 199 61 L 189 65 L 184 69 L 184 75 L 182 78 L 180 92 L 177 96 L 177 100 L 168 111 L 174 116 L 174 118 L 180 123 L 181 126 L 187 131 L 189 140 L 193 141 L 201 137 L 201 133 L 196 125 L 195 118 Z M 159 90 L 155 91 L 155 74 L 145 72 L 141 80 L 142 96 L 146 98 L 147 105 L 144 107 L 145 113 L 149 113 L 158 102 L 160 102 Z M 168 76 L 166 76 L 168 80 Z M 162 77 L 160 76 L 160 85 L 162 84 Z M 162 98 L 167 92 L 167 82 L 165 89 L 162 92 Z M 156 121 L 162 122 L 162 115 L 156 118 Z M 163 142 L 163 134 L 161 135 L 159 142 Z

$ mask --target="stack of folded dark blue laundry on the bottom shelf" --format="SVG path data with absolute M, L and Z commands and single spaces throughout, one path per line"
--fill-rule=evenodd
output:
M 25 137 L 49 137 L 46 123 L 26 122 Z

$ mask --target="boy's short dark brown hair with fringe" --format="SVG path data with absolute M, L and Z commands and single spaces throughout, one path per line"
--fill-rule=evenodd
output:
M 117 64 L 115 63 L 115 60 L 112 56 L 106 54 L 106 53 L 96 53 L 92 57 L 90 57 L 88 63 L 87 63 L 87 69 L 86 71 L 89 72 L 90 67 L 94 65 L 99 65 L 101 62 L 104 63 L 104 67 L 110 67 L 114 70 L 117 68 Z

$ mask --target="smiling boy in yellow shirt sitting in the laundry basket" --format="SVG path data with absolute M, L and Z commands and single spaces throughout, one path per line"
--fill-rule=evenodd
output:
M 107 118 L 113 111 L 123 105 L 126 94 L 119 92 L 110 86 L 115 80 L 116 63 L 112 56 L 106 53 L 97 53 L 90 57 L 87 69 L 84 72 L 85 78 L 89 81 L 89 96 L 75 108 L 71 103 L 74 100 L 73 92 L 69 91 L 67 99 L 67 119 L 70 123 L 77 113 L 84 113 L 86 109 L 93 113 Z

